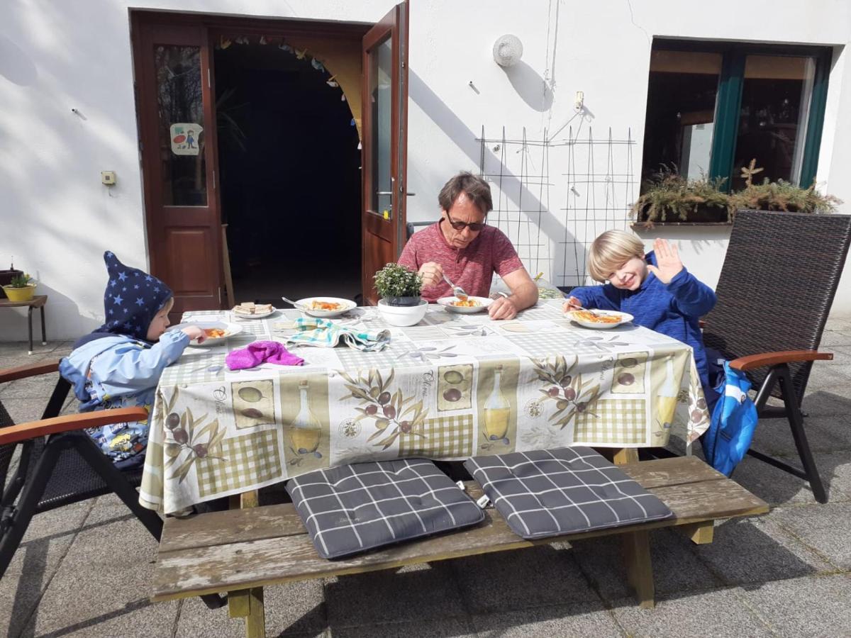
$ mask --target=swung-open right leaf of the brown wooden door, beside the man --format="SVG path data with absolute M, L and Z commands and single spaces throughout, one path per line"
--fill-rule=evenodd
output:
M 408 0 L 363 37 L 363 299 L 405 242 L 408 195 Z

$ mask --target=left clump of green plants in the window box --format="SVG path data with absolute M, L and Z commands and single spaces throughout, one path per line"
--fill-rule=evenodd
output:
M 722 187 L 726 179 L 688 179 L 677 167 L 663 166 L 645 183 L 630 214 L 652 228 L 657 222 L 729 222 L 730 197 Z

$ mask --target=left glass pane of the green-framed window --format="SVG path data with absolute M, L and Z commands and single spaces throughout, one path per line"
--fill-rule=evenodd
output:
M 650 57 L 644 180 L 664 165 L 689 178 L 709 174 L 722 56 L 654 50 Z

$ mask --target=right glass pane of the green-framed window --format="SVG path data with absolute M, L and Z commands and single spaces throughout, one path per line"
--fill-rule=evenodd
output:
M 752 159 L 763 169 L 753 176 L 755 184 L 762 184 L 763 179 L 797 184 L 814 77 L 814 58 L 747 56 L 733 164 L 734 190 L 745 187 L 741 168 Z

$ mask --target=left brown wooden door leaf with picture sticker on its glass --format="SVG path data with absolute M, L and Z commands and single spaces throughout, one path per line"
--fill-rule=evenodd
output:
M 134 20 L 134 65 L 151 274 L 171 316 L 221 307 L 214 92 L 207 29 Z

